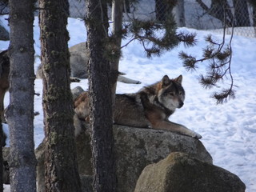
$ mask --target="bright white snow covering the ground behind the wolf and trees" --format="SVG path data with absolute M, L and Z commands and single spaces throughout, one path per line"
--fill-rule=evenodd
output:
M 2 22 L 6 22 L 1 18 Z M 70 31 L 69 46 L 86 41 L 86 28 L 80 19 L 69 19 Z M 117 93 L 132 93 L 142 86 L 159 81 L 163 75 L 170 78 L 183 75 L 182 85 L 186 90 L 185 105 L 176 110 L 170 117 L 171 121 L 181 123 L 191 130 L 202 135 L 202 143 L 214 159 L 214 165 L 221 166 L 230 172 L 237 174 L 246 184 L 246 191 L 256 191 L 256 39 L 234 35 L 232 47 L 232 73 L 234 84 L 237 86 L 236 98 L 223 105 L 216 105 L 210 98 L 214 90 L 204 90 L 198 83 L 198 75 L 204 73 L 204 63 L 199 64 L 196 72 L 187 72 L 182 61 L 178 58 L 178 52 L 184 50 L 187 53 L 200 57 L 202 48 L 206 46 L 204 37 L 213 34 L 216 39 L 222 40 L 222 34 L 209 31 L 182 28 L 179 30 L 197 33 L 198 43 L 194 47 L 182 45 L 163 54 L 162 57 L 146 58 L 142 46 L 138 42 L 132 42 L 123 49 L 123 57 L 119 70 L 126 73 L 126 77 L 136 79 L 142 84 L 131 85 L 118 82 Z M 228 42 L 230 35 L 226 35 Z M 34 21 L 34 40 L 36 54 L 40 55 L 38 18 Z M 125 44 L 126 41 L 123 42 Z M 0 42 L 0 50 L 5 50 L 9 42 Z M 35 60 L 35 69 L 40 61 Z M 224 82 L 225 86 L 228 82 Z M 71 88 L 82 86 L 87 89 L 87 80 L 71 84 Z M 228 84 L 226 85 L 228 86 Z M 38 146 L 44 137 L 42 117 L 42 80 L 35 80 L 35 92 L 40 96 L 34 97 L 34 110 L 40 114 L 34 118 L 34 142 Z M 9 94 L 6 94 L 5 105 L 9 103 Z M 8 127 L 4 124 L 4 130 L 8 133 Z M 5 192 L 10 191 L 6 186 Z

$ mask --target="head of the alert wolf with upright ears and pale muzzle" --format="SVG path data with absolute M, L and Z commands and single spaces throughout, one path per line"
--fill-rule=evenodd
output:
M 185 100 L 185 90 L 182 87 L 182 75 L 170 79 L 167 75 L 158 84 L 158 101 L 169 110 L 181 108 Z

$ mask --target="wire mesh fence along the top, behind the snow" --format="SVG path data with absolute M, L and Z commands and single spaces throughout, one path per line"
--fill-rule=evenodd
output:
M 84 18 L 85 0 L 69 1 L 70 17 Z M 178 5 L 173 7 L 174 2 Z M 256 10 L 248 0 L 124 0 L 123 12 L 125 21 L 156 18 L 160 22 L 172 12 L 178 26 L 216 31 L 226 26 L 227 34 L 234 26 L 234 34 L 256 37 Z

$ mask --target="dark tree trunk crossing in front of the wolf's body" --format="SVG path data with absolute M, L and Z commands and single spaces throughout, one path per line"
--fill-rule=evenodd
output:
M 114 137 L 110 62 L 104 57 L 108 38 L 106 1 L 86 1 L 86 28 L 89 57 L 90 126 L 94 164 L 94 190 L 114 192 Z

